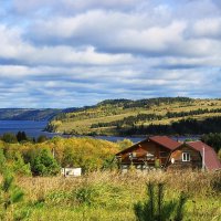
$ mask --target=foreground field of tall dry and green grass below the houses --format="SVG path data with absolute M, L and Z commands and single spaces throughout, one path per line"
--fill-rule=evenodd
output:
M 165 201 L 188 194 L 183 220 L 221 220 L 221 175 L 201 172 L 96 171 L 81 178 L 18 178 L 24 201 L 13 210 L 32 221 L 135 221 L 134 204 L 147 197 L 146 183 L 165 183 Z M 10 219 L 9 219 L 10 220 Z

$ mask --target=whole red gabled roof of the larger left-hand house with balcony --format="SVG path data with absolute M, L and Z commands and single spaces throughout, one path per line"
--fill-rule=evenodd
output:
M 133 150 L 136 146 L 139 146 L 139 145 L 141 145 L 144 143 L 147 143 L 149 140 L 151 140 L 155 144 L 158 144 L 158 145 L 160 145 L 160 146 L 162 146 L 162 147 L 165 147 L 165 148 L 167 148 L 169 150 L 173 150 L 173 149 L 176 149 L 177 147 L 180 146 L 180 143 L 175 141 L 173 139 L 171 139 L 171 138 L 169 138 L 167 136 L 151 136 L 151 137 L 148 137 L 148 138 L 139 141 L 139 143 L 133 145 L 131 147 L 128 147 L 128 148 L 117 152 L 116 155 L 122 155 L 122 154 L 124 154 L 126 151 L 129 151 L 130 149 Z

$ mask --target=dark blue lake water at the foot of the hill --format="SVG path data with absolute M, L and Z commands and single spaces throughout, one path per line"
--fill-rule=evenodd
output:
M 32 120 L 0 120 L 0 136 L 4 133 L 13 133 L 25 131 L 25 134 L 30 137 L 39 137 L 40 135 L 45 135 L 48 137 L 62 136 L 70 137 L 67 135 L 56 134 L 56 133 L 48 133 L 43 131 L 48 122 L 32 122 Z M 134 143 L 140 141 L 141 137 L 115 137 L 115 136 L 94 136 L 93 138 L 97 139 L 106 139 L 109 141 L 123 140 L 125 138 L 131 139 Z

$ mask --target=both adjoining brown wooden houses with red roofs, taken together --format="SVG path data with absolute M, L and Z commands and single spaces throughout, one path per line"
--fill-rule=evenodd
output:
M 118 168 L 138 170 L 156 167 L 167 170 L 218 170 L 221 162 L 212 147 L 202 141 L 178 143 L 167 136 L 151 136 L 116 154 Z

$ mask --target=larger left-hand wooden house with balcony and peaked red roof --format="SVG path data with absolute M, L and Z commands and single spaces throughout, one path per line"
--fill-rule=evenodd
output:
M 125 171 L 131 165 L 138 170 L 165 167 L 170 152 L 180 143 L 167 136 L 152 136 L 116 154 L 118 167 Z

